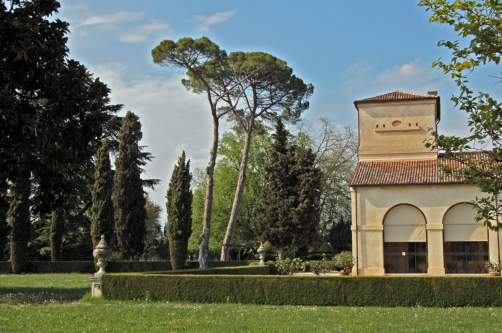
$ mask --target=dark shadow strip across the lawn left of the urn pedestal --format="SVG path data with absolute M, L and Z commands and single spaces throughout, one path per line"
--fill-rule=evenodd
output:
M 43 304 L 80 299 L 90 288 L 0 287 L 0 303 Z

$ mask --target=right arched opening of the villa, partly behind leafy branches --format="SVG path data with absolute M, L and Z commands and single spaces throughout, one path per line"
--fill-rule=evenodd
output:
M 477 210 L 467 202 L 451 206 L 443 217 L 444 263 L 448 273 L 483 273 L 488 260 L 488 229 L 476 222 Z

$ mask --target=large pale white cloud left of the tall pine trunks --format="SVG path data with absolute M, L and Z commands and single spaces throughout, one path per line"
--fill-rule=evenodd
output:
M 90 71 L 112 90 L 113 104 L 123 104 L 121 115 L 129 110 L 141 117 L 145 151 L 156 158 L 146 167 L 143 178 L 162 179 L 152 192 L 164 206 L 169 178 L 178 156 L 185 150 L 191 168 L 205 167 L 212 144 L 212 117 L 207 101 L 181 84 L 182 75 L 153 77 L 145 75 L 127 81 L 133 69 L 121 64 L 102 64 Z M 223 132 L 221 126 L 220 131 Z

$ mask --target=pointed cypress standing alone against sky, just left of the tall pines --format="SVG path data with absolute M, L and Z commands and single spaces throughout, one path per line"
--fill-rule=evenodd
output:
M 188 238 L 192 234 L 192 199 L 190 160 L 185 163 L 185 151 L 174 166 L 167 190 L 167 235 L 173 269 L 184 269 Z

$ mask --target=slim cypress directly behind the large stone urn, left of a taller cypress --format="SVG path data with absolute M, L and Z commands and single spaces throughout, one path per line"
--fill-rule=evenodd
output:
M 95 170 L 95 181 L 91 190 L 91 237 L 93 248 L 101 239 L 101 235 L 104 235 L 108 244 L 111 244 L 115 226 L 112 199 L 113 173 L 111 171 L 110 150 L 107 139 L 103 140 L 103 145 L 97 152 Z

